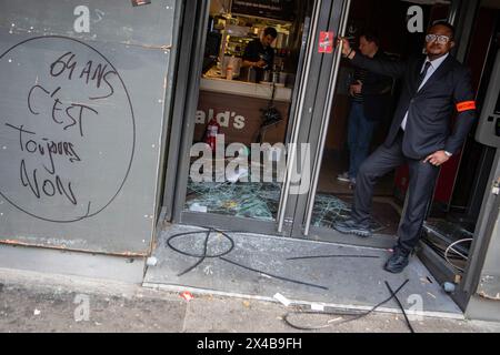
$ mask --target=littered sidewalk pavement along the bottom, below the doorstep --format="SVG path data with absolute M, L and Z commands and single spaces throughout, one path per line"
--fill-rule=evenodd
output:
M 294 333 L 279 303 L 193 295 L 139 285 L 0 268 L 0 332 L 41 333 Z M 331 317 L 303 320 L 324 325 Z M 304 323 L 306 324 L 306 323 Z M 498 333 L 500 324 L 413 321 L 417 333 Z M 374 313 L 321 329 L 327 333 L 408 333 L 402 315 Z

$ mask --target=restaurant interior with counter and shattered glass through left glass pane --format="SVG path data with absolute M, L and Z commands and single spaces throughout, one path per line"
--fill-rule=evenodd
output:
M 253 143 L 269 143 L 274 148 L 286 144 L 303 51 L 302 36 L 307 33 L 304 23 L 311 13 L 312 3 L 306 0 L 289 1 L 278 10 L 260 11 L 234 1 L 211 1 L 193 144 L 210 144 L 211 120 L 217 121 L 212 126 L 223 136 L 224 149 L 239 143 L 250 154 Z M 267 28 L 277 31 L 271 44 L 273 63 L 269 64 L 269 70 L 258 69 L 256 73 L 242 65 L 243 57 L 249 43 L 262 39 Z M 270 155 L 269 151 L 262 151 L 259 162 L 254 162 L 253 155 L 248 169 L 237 170 L 231 176 L 226 174 L 230 156 L 216 158 L 223 164 L 221 169 L 213 169 L 211 182 L 190 179 L 186 210 L 274 221 L 282 181 L 276 172 L 274 176 L 262 181 L 264 165 L 273 164 L 267 160 Z M 192 162 L 196 161 L 194 158 Z M 213 182 L 224 174 L 227 179 Z M 251 182 L 256 174 L 261 178 L 260 182 Z

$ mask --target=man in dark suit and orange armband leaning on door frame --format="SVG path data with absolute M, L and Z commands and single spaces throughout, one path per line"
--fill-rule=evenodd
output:
M 398 244 L 384 266 L 391 273 L 400 273 L 408 265 L 409 255 L 420 240 L 439 166 L 459 152 L 476 120 L 470 72 L 449 54 L 454 47 L 453 36 L 451 24 L 436 23 L 426 37 L 427 58 L 408 62 L 363 58 L 346 39 L 340 39 L 343 55 L 354 65 L 403 81 L 389 135 L 360 168 L 351 219 L 334 225 L 341 233 L 371 236 L 373 185 L 378 178 L 408 163 L 408 206 L 398 231 Z M 458 115 L 451 126 L 454 110 Z

